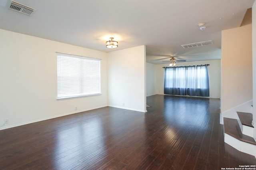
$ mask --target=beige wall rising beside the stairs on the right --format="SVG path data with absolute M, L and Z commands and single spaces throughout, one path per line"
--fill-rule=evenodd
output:
M 252 100 L 252 24 L 222 31 L 221 112 Z

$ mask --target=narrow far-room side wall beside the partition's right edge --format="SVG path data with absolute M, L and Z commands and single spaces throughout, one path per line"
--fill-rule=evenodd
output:
M 155 95 L 155 65 L 146 63 L 147 96 Z

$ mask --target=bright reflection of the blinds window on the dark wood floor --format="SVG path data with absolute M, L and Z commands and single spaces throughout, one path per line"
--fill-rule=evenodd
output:
M 58 129 L 54 166 L 63 169 L 70 165 L 69 162 L 77 162 L 78 166 L 86 164 L 91 154 L 96 156 L 95 160 L 102 157 L 105 145 L 104 139 L 100 136 L 103 134 L 102 120 L 98 116 L 78 123 L 67 123 L 65 128 Z M 63 154 L 60 154 L 61 151 Z M 93 160 L 90 161 L 94 163 Z

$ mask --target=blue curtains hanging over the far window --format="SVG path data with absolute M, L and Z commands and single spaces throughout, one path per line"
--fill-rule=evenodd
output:
M 166 67 L 164 94 L 209 97 L 207 65 Z

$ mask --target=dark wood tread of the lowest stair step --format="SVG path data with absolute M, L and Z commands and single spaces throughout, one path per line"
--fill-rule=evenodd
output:
M 240 126 L 236 119 L 230 119 L 230 118 L 224 117 L 224 133 L 242 142 L 247 142 L 247 143 L 256 145 L 254 138 L 247 136 L 245 134 L 242 134 L 240 130 Z

